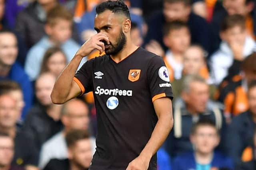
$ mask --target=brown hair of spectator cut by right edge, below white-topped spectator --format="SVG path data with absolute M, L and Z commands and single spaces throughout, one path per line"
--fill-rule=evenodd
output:
M 242 61 L 242 70 L 256 74 L 256 52 L 253 52 Z

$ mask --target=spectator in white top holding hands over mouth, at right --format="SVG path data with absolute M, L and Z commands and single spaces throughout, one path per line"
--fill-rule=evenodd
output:
M 217 85 L 228 76 L 228 69 L 234 62 L 243 60 L 256 49 L 254 39 L 246 34 L 245 19 L 241 15 L 227 16 L 223 20 L 220 37 L 220 48 L 210 58 L 212 78 Z M 230 72 L 229 76 L 238 73 Z

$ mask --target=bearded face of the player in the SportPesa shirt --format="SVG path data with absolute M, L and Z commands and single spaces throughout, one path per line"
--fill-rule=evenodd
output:
M 97 33 L 105 34 L 110 44 L 105 44 L 105 53 L 107 55 L 116 55 L 126 45 L 126 34 L 130 31 L 131 24 L 124 16 L 114 14 L 110 10 L 106 10 L 96 15 L 94 27 Z

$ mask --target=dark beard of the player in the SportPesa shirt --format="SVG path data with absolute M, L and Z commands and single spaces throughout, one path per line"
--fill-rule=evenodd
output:
M 106 44 L 105 44 L 105 53 L 106 53 L 106 55 L 116 55 L 120 51 L 122 51 L 122 49 L 124 49 L 125 45 L 126 45 L 126 36 L 124 35 L 123 31 L 121 30 L 120 35 L 117 39 L 116 45 L 113 45 L 112 43 L 110 43 L 110 47 L 108 47 L 108 49 L 106 49 Z

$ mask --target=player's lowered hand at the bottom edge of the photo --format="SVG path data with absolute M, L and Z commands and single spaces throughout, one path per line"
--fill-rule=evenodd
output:
M 147 170 L 149 166 L 150 159 L 144 158 L 143 156 L 138 156 L 132 162 L 128 164 L 126 170 Z

